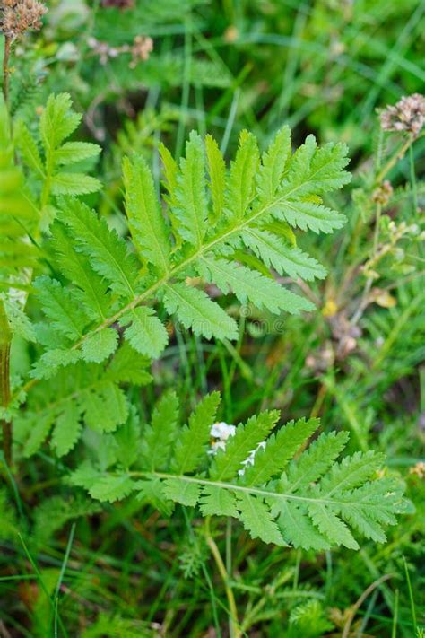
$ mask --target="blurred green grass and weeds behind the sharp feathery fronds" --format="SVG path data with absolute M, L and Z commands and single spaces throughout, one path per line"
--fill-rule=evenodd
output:
M 228 424 L 279 408 L 285 421 L 320 416 L 325 432 L 349 431 L 351 452 L 384 452 L 416 506 L 386 545 L 317 554 L 261 544 L 231 522 L 215 542 L 244 635 L 423 635 L 424 139 L 384 131 L 377 109 L 423 92 L 425 3 L 61 0 L 48 9 L 44 28 L 14 50 L 13 116 L 34 133 L 50 92 L 71 93 L 84 114 L 78 135 L 102 147 L 84 169 L 104 188 L 87 202 L 118 232 L 130 151 L 159 180 L 160 141 L 179 155 L 193 128 L 228 156 L 241 129 L 264 148 L 282 124 L 295 145 L 309 133 L 348 144 L 352 182 L 328 198 L 347 223 L 336 238 L 308 233 L 303 243 L 328 270 L 323 282 L 299 283 L 317 311 L 276 319 L 230 305 L 236 345 L 178 330 L 154 382 L 132 392 L 146 420 L 168 389 L 185 416 L 220 389 Z M 14 376 L 29 370 L 31 347 L 13 344 Z M 108 453 L 94 434 L 85 442 Z M 135 499 L 93 503 L 58 478 L 65 465 L 48 447 L 14 478 L 4 465 L 0 635 L 228 635 L 225 588 L 193 513 L 164 519 Z

